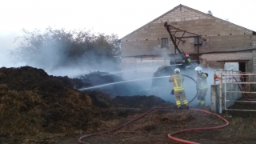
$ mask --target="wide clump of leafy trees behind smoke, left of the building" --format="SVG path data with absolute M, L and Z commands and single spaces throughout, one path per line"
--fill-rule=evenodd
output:
M 18 47 L 13 51 L 16 58 L 30 66 L 60 67 L 74 66 L 78 62 L 96 65 L 114 62 L 114 55 L 120 50 L 116 34 L 92 34 L 90 30 L 53 30 L 47 28 L 29 32 L 18 38 Z

